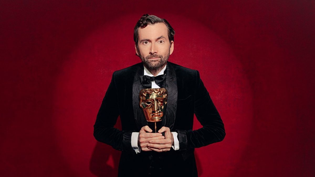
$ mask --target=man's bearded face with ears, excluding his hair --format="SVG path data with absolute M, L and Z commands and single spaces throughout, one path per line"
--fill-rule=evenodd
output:
M 138 50 L 136 45 L 135 49 L 146 68 L 155 70 L 163 66 L 174 50 L 174 41 L 169 42 L 166 25 L 148 25 L 139 28 L 138 34 Z

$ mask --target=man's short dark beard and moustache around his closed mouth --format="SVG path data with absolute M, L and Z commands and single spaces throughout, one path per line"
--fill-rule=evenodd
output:
M 169 48 L 170 52 L 170 48 Z M 160 69 L 169 59 L 169 53 L 165 56 L 163 55 L 158 55 L 158 54 L 153 54 L 153 55 L 148 55 L 146 57 L 143 57 L 142 55 L 139 56 L 140 59 L 142 60 L 142 63 L 148 70 L 158 70 Z M 155 60 L 152 60 L 150 58 L 157 58 Z

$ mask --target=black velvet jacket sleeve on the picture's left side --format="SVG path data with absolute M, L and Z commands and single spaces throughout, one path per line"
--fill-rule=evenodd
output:
M 135 151 L 131 147 L 132 131 L 123 131 L 114 128 L 118 115 L 118 95 L 114 72 L 96 116 L 93 135 L 97 141 L 106 143 L 116 150 L 129 151 L 135 154 Z

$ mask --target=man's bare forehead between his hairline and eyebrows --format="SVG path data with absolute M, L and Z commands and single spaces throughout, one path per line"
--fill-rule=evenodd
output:
M 164 23 L 156 23 L 148 25 L 144 28 L 138 29 L 139 39 L 152 39 L 155 40 L 157 37 L 164 36 L 168 39 L 167 27 Z

